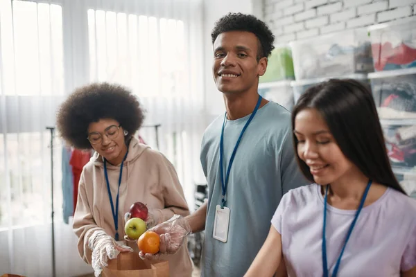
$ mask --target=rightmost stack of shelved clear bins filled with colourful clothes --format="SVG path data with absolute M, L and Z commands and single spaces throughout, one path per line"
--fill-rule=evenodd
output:
M 416 21 L 379 24 L 369 32 L 376 72 L 368 78 L 392 170 L 416 198 Z

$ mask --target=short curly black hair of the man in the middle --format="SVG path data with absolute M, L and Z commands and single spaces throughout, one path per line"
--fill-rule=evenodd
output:
M 214 44 L 218 35 L 233 30 L 241 30 L 256 35 L 259 39 L 257 60 L 260 60 L 262 57 L 269 57 L 270 53 L 272 53 L 272 50 L 275 48 L 273 45 L 275 36 L 266 23 L 257 19 L 257 17 L 254 17 L 254 15 L 244 15 L 240 12 L 229 12 L 227 15 L 216 21 L 211 33 L 212 44 Z

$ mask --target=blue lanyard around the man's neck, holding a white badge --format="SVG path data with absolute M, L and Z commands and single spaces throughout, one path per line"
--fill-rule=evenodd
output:
M 239 139 L 237 140 L 236 146 L 234 147 L 234 150 L 231 154 L 231 158 L 229 159 L 228 163 L 228 169 L 227 169 L 227 175 L 225 175 L 224 180 L 224 170 L 223 170 L 223 157 L 224 157 L 224 127 L 225 127 L 225 118 L 227 118 L 227 112 L 225 112 L 224 115 L 224 122 L 223 122 L 223 129 L 221 129 L 221 139 L 220 139 L 220 172 L 221 172 L 221 188 L 223 189 L 223 197 L 221 198 L 221 208 L 224 208 L 225 206 L 225 193 L 227 193 L 227 186 L 228 186 L 228 178 L 229 178 L 229 172 L 231 170 L 232 162 L 234 161 L 234 157 L 236 156 L 237 148 L 239 147 L 241 138 L 243 137 L 243 134 L 245 132 L 245 129 L 247 129 L 248 125 L 250 124 L 251 120 L 254 118 L 254 116 L 257 113 L 257 110 L 260 107 L 262 97 L 259 96 L 259 100 L 257 100 L 257 105 L 254 107 L 254 111 L 252 112 L 250 118 L 248 118 L 247 123 L 245 123 L 243 130 L 241 131 L 241 134 L 239 136 Z

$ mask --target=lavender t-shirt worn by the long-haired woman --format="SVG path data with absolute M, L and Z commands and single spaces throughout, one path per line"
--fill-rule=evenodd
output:
M 281 234 L 288 276 L 322 277 L 324 197 L 311 184 L 289 190 L 272 225 Z M 356 211 L 327 205 L 327 260 L 330 275 Z M 400 276 L 416 267 L 416 200 L 392 188 L 361 211 L 340 262 L 340 277 Z

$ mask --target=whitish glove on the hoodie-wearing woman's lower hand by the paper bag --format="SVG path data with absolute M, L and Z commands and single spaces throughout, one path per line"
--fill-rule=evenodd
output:
M 92 250 L 92 269 L 94 269 L 96 277 L 100 276 L 104 267 L 107 267 L 109 259 L 117 258 L 120 252 L 133 251 L 130 247 L 116 242 L 104 230 L 97 230 L 92 233 L 88 240 L 88 247 Z

